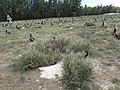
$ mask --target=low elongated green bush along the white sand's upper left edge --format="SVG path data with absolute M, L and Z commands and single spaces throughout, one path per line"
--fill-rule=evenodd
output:
M 31 51 L 16 58 L 13 65 L 15 70 L 32 70 L 42 66 L 53 65 L 61 60 L 59 54 L 44 54 L 42 52 Z

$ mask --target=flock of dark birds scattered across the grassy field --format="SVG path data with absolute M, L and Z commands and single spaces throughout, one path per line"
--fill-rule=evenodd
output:
M 78 19 L 79 19 L 79 17 L 78 17 Z M 97 22 L 97 19 L 96 18 L 93 18 L 94 19 L 94 22 Z M 112 18 L 113 19 L 113 18 Z M 46 19 L 46 21 L 41 21 L 41 23 L 40 22 L 38 22 L 37 24 L 41 24 L 41 25 L 45 25 L 46 24 L 46 22 L 48 21 L 48 19 Z M 58 22 L 56 22 L 56 24 L 57 25 L 61 25 L 61 23 L 68 23 L 68 22 L 72 22 L 72 23 L 74 23 L 76 20 L 74 19 L 74 18 L 67 18 L 66 20 L 62 20 L 62 19 L 59 19 L 58 20 Z M 103 20 L 103 22 L 102 22 L 102 27 L 104 27 L 105 26 L 105 23 L 104 23 L 104 21 L 106 21 L 106 19 L 104 18 L 104 20 Z M 36 24 L 36 23 L 35 23 Z M 51 22 L 50 23 L 50 25 L 51 26 L 53 26 L 55 24 L 55 22 Z M 28 27 L 28 25 L 30 25 L 30 26 L 32 26 L 32 24 L 29 24 L 29 23 L 27 23 L 27 24 L 24 24 L 24 26 L 25 27 Z M 3 25 L 3 27 L 7 27 L 7 25 Z M 20 30 L 22 27 L 20 26 L 20 24 L 18 23 L 18 25 L 16 25 L 16 29 L 18 29 L 18 30 Z M 39 26 L 38 28 L 41 28 L 41 26 Z M 114 25 L 114 27 L 113 27 L 113 33 L 112 33 L 112 35 L 116 38 L 116 39 L 118 39 L 118 40 L 120 40 L 120 35 L 117 33 L 117 29 L 116 29 L 116 27 L 115 27 L 115 25 Z M 12 33 L 9 31 L 9 30 L 5 30 L 5 34 L 8 34 L 8 35 L 11 35 Z M 53 39 L 55 39 L 55 36 L 53 36 Z M 33 35 L 32 35 L 32 33 L 30 33 L 29 34 L 29 41 L 30 42 L 34 42 L 35 41 L 35 38 L 33 37 Z M 89 56 L 89 52 L 88 51 L 85 51 L 85 56 L 84 56 L 84 58 L 86 58 L 86 57 L 88 57 Z

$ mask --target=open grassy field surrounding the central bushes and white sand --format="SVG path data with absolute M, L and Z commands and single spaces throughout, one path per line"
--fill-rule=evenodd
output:
M 14 21 L 12 27 L 0 22 L 0 90 L 63 90 L 60 78 L 47 80 L 40 78 L 37 68 L 20 72 L 11 67 L 15 58 L 33 49 L 32 45 L 54 37 L 68 39 L 73 45 L 77 41 L 88 43 L 94 66 L 92 81 L 99 90 L 120 90 L 120 40 L 112 35 L 114 25 L 119 33 L 120 15 Z M 35 42 L 29 42 L 29 33 Z M 67 49 L 62 51 L 65 55 Z

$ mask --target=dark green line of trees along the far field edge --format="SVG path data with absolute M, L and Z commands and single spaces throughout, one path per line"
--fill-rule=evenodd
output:
M 0 21 L 9 14 L 13 20 L 71 17 L 114 13 L 119 8 L 112 5 L 85 7 L 82 0 L 0 0 Z

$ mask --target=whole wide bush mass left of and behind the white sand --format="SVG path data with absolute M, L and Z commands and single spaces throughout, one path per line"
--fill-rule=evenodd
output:
M 16 70 L 31 70 L 37 67 L 53 65 L 62 60 L 69 40 L 64 38 L 46 39 L 31 46 L 31 51 L 23 53 L 15 59 Z

